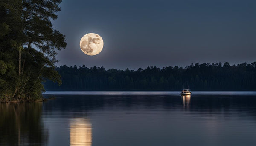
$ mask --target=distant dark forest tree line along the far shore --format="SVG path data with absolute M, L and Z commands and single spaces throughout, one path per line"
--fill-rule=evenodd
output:
M 62 85 L 47 80 L 47 91 L 70 90 L 180 90 L 189 84 L 193 90 L 255 90 L 256 62 L 230 65 L 222 63 L 192 63 L 190 66 L 169 66 L 162 69 L 118 70 L 85 65 L 59 66 Z

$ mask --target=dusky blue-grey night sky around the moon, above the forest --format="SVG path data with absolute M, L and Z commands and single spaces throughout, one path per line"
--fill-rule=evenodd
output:
M 138 69 L 256 61 L 256 0 L 63 0 L 55 29 L 67 48 L 56 66 Z M 87 33 L 104 40 L 84 54 Z

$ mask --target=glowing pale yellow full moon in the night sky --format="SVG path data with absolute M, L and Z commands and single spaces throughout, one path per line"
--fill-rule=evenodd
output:
M 93 56 L 99 54 L 103 48 L 103 40 L 99 34 L 85 34 L 80 40 L 80 48 L 84 54 Z

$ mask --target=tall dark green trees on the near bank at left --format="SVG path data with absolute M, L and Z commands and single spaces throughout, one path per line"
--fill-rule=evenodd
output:
M 51 20 L 61 0 L 1 0 L 0 98 L 33 100 L 41 97 L 44 79 L 61 84 L 54 70 L 56 49 L 64 49 L 65 36 Z

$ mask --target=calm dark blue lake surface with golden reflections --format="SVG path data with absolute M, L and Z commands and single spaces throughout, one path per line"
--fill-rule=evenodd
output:
M 256 146 L 256 92 L 46 92 L 0 104 L 0 145 Z

